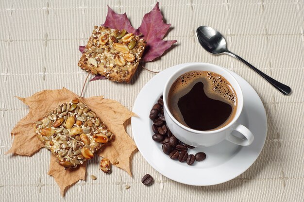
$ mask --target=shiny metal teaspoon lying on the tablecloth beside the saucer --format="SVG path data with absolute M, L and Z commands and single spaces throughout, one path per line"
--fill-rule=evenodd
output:
M 252 68 L 256 73 L 261 75 L 264 79 L 266 79 L 271 85 L 273 85 L 281 93 L 283 93 L 284 95 L 290 94 L 291 89 L 289 86 L 272 79 L 270 76 L 264 74 L 257 68 L 253 67 L 251 64 L 249 64 L 246 60 L 244 60 L 240 56 L 236 55 L 233 52 L 230 52 L 226 47 L 225 38 L 217 30 L 215 30 L 211 27 L 201 26 L 201 27 L 197 28 L 196 34 L 197 34 L 197 37 L 199 39 L 201 46 L 208 52 L 210 52 L 212 54 L 216 54 L 216 55 L 225 53 L 227 55 L 231 55 L 231 56 L 239 59 L 240 61 L 245 63 L 248 67 Z

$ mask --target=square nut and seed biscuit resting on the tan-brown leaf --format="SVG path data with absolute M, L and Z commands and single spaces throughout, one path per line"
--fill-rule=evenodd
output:
M 35 122 L 35 134 L 66 169 L 93 158 L 113 134 L 84 103 L 73 99 Z

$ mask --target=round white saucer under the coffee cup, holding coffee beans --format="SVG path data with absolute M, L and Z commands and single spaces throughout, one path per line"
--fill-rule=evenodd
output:
M 154 133 L 149 114 L 152 106 L 162 95 L 169 76 L 184 65 L 186 64 L 170 67 L 158 73 L 138 94 L 133 107 L 133 112 L 138 117 L 132 117 L 135 143 L 148 163 L 171 180 L 187 185 L 217 185 L 242 174 L 259 156 L 267 134 L 265 109 L 253 87 L 230 71 L 241 85 L 244 95 L 244 107 L 238 122 L 252 131 L 253 143 L 242 147 L 224 140 L 212 147 L 188 150 L 189 154 L 205 152 L 207 155 L 204 161 L 195 162 L 192 166 L 170 159 L 163 153 L 161 144 L 152 140 Z

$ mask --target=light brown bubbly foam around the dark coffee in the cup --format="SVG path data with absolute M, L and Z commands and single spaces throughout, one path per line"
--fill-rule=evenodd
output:
M 178 109 L 177 101 L 179 98 L 186 95 L 198 82 L 202 82 L 204 84 L 203 90 L 209 98 L 226 102 L 232 106 L 233 113 L 231 116 L 226 120 L 225 123 L 216 129 L 224 127 L 232 120 L 236 113 L 235 108 L 237 105 L 237 96 L 231 84 L 224 77 L 214 72 L 189 71 L 177 78 L 171 85 L 168 95 L 168 104 L 171 114 L 173 117 L 179 120 L 179 122 L 187 126 L 183 121 L 181 112 Z

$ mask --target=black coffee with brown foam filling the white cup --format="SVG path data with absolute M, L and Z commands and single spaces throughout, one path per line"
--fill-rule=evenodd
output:
M 237 97 L 231 84 L 219 74 L 189 71 L 172 84 L 168 105 L 173 117 L 183 125 L 210 131 L 234 118 Z

